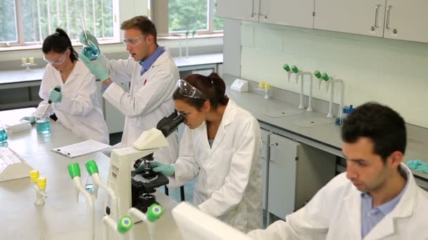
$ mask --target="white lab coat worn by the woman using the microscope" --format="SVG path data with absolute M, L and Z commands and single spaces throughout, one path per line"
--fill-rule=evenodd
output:
M 194 204 L 201 211 L 243 232 L 262 226 L 260 126 L 230 99 L 213 147 L 206 122 L 184 130 L 172 182 L 194 178 Z

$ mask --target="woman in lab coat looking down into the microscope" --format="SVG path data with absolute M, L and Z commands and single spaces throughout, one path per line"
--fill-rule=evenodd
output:
M 243 232 L 262 224 L 260 126 L 225 95 L 218 74 L 191 74 L 172 98 L 185 118 L 175 164 L 153 162 L 174 185 L 196 178 L 194 204 Z

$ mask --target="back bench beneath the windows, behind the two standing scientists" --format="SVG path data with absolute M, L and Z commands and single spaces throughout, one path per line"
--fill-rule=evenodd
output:
M 189 57 L 173 58 L 180 75 L 184 76 L 192 71 L 212 69 L 219 71 L 219 65 L 223 62 L 222 53 L 191 55 Z M 0 110 L 15 109 L 20 107 L 34 107 L 39 104 L 39 86 L 42 82 L 44 68 L 0 71 Z M 121 83 L 119 83 L 121 84 Z M 99 88 L 99 100 L 104 112 L 109 133 L 118 133 L 123 130 L 125 116 L 101 97 L 101 82 L 96 82 Z M 129 86 L 121 84 L 125 91 Z

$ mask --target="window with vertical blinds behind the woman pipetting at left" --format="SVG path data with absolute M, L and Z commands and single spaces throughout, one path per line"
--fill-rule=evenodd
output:
M 41 44 L 56 27 L 78 39 L 80 19 L 97 38 L 119 39 L 117 5 L 115 0 L 0 0 L 0 46 Z

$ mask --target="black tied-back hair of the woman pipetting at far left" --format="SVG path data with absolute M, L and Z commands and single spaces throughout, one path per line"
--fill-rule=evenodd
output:
M 61 29 L 55 29 L 55 33 L 46 37 L 43 41 L 42 51 L 43 53 L 49 53 L 53 51 L 54 53 L 64 53 L 70 48 L 70 60 L 74 62 L 77 60 L 78 55 L 73 46 L 71 45 L 71 40 L 68 37 L 67 33 Z

